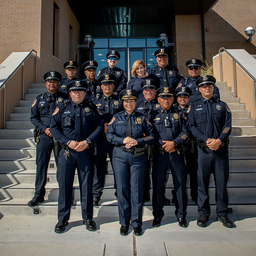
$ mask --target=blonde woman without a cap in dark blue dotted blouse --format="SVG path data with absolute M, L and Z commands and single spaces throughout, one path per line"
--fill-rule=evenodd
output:
M 140 83 L 146 78 L 146 65 L 142 60 L 136 60 L 132 65 L 132 76 L 135 78 L 131 79 L 127 84 L 127 89 L 134 89 L 139 92 L 139 98 L 137 102 L 144 100 L 143 89 Z

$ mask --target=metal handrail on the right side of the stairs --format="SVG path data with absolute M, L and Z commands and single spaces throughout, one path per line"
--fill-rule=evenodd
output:
M 235 92 L 235 98 L 237 98 L 237 83 L 236 83 L 236 63 L 240 66 L 240 68 L 242 68 L 244 70 L 244 72 L 252 79 L 253 81 L 253 94 L 254 94 L 254 111 L 255 111 L 255 122 L 256 122 L 256 79 L 254 76 L 252 76 L 247 69 L 244 68 L 244 66 L 238 61 L 236 60 L 236 58 L 230 53 L 228 52 L 228 50 L 226 50 L 224 47 L 221 47 L 219 49 L 219 61 L 220 61 L 220 81 L 223 82 L 223 70 L 222 70 L 222 52 L 220 54 L 220 51 L 224 50 L 229 57 L 232 58 L 232 62 L 233 62 L 233 81 L 234 81 L 234 92 Z M 220 60 L 221 59 L 221 60 Z

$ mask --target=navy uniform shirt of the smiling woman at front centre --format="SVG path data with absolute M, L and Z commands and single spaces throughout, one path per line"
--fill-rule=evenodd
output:
M 115 145 L 124 145 L 126 138 L 126 123 L 128 114 L 126 111 L 115 114 L 108 124 L 107 139 Z M 152 125 L 148 118 L 138 112 L 133 111 L 131 116 L 132 139 L 137 140 L 138 146 L 144 146 L 154 140 Z M 145 136 L 144 136 L 145 134 Z M 137 146 L 135 146 L 137 147 Z

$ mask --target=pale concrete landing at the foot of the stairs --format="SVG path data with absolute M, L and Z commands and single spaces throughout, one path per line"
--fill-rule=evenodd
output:
M 206 228 L 187 216 L 188 228 L 176 218 L 164 217 L 159 228 L 152 217 L 143 218 L 143 235 L 119 234 L 118 217 L 96 217 L 97 230 L 87 231 L 81 217 L 72 216 L 62 234 L 54 232 L 56 217 L 3 216 L 0 220 L 0 254 L 5 255 L 97 255 L 97 256 L 254 256 L 256 217 L 230 217 L 234 228 L 225 228 L 212 214 Z

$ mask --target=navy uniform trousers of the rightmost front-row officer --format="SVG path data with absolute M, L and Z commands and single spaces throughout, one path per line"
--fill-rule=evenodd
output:
M 229 176 L 229 161 L 228 148 L 220 147 L 213 151 L 210 148 L 201 150 L 197 147 L 196 155 L 198 155 L 197 167 L 197 183 L 198 183 L 198 198 L 197 206 L 198 213 L 202 216 L 210 215 L 209 204 L 209 181 L 211 172 L 215 181 L 215 200 L 217 216 L 227 216 L 228 214 L 228 176 Z

